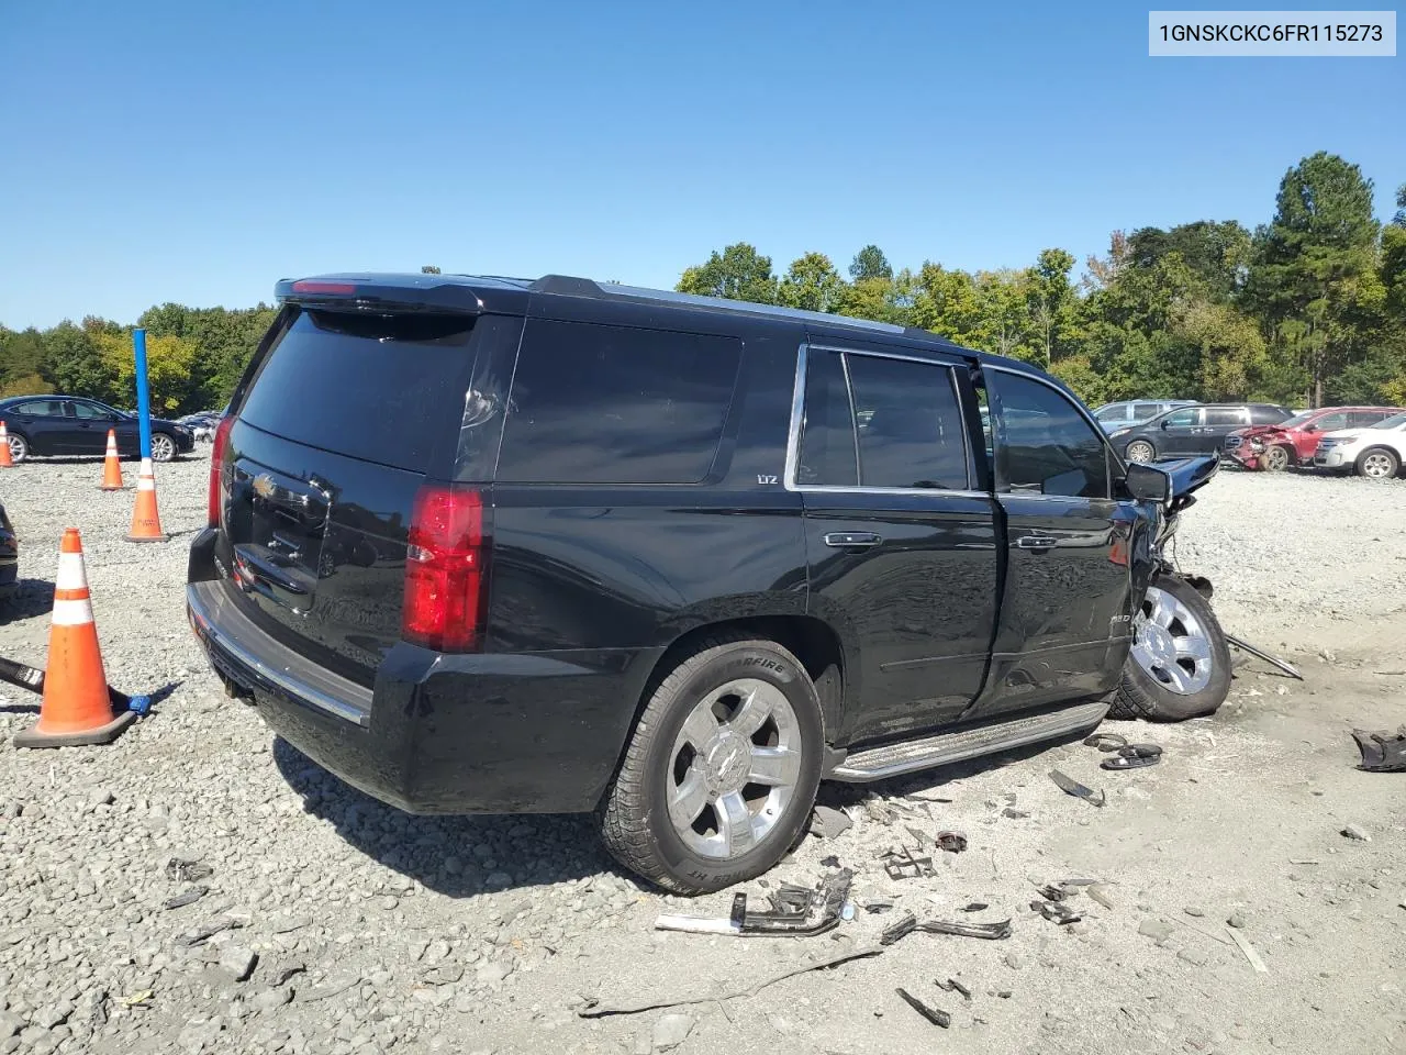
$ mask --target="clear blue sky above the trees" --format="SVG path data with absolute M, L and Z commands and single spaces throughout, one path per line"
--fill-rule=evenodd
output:
M 1147 6 L 8 0 L 0 322 L 245 307 L 284 276 L 672 286 L 1080 260 L 1268 219 L 1319 149 L 1391 214 L 1406 59 L 1150 59 Z

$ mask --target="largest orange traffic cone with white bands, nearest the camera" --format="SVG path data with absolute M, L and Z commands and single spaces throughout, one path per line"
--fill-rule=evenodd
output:
M 39 720 L 15 733 L 15 747 L 82 747 L 117 740 L 135 710 L 112 713 L 97 647 L 93 601 L 83 567 L 83 540 L 77 528 L 63 530 L 59 574 L 53 588 L 53 622 L 49 626 L 49 664 L 44 675 Z

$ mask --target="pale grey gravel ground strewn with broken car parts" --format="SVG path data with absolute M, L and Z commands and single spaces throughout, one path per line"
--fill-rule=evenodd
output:
M 100 475 L 38 461 L 0 477 L 25 580 L 0 654 L 44 663 L 72 523 L 111 682 L 174 689 L 114 746 L 28 753 L 10 737 L 35 698 L 0 695 L 0 1054 L 1406 1049 L 1406 775 L 1355 771 L 1348 738 L 1402 722 L 1403 481 L 1223 473 L 1185 516 L 1180 561 L 1216 582 L 1227 630 L 1303 682 L 1250 661 L 1212 719 L 1109 723 L 1166 747 L 1150 769 L 1105 774 L 1074 743 L 825 786 L 855 827 L 807 840 L 766 882 L 814 883 L 835 855 L 860 906 L 898 907 L 860 907 L 827 937 L 738 940 L 654 931 L 661 912 L 725 914 L 730 896 L 638 886 L 585 819 L 409 817 L 277 741 L 225 701 L 186 626 L 205 463 L 159 468 L 166 546 L 122 542 L 132 492 L 103 494 Z M 1060 793 L 1054 765 L 1108 805 Z M 959 830 L 969 848 L 891 881 L 875 857 L 911 845 L 910 829 Z M 173 857 L 212 874 L 170 878 Z M 1031 912 L 1038 885 L 1067 878 L 1104 881 L 1112 907 L 1076 895 L 1070 926 Z M 163 907 L 191 888 L 208 892 Z M 966 916 L 972 902 L 991 907 Z M 576 1014 L 595 997 L 747 987 L 868 944 L 904 909 L 1010 917 L 1014 933 L 914 934 L 725 1003 Z M 970 1000 L 936 987 L 949 978 Z M 896 986 L 950 1028 L 935 1034 Z

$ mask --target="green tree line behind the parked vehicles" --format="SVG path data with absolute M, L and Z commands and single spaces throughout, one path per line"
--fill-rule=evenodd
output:
M 1022 269 L 894 270 L 870 245 L 846 276 L 818 252 L 776 274 L 770 257 L 738 242 L 686 269 L 678 290 L 920 326 L 1042 366 L 1091 405 L 1406 405 L 1406 184 L 1396 204 L 1379 222 L 1371 180 L 1320 152 L 1285 173 L 1268 224 L 1115 231 L 1077 281 L 1063 249 Z M 274 314 L 266 304 L 145 311 L 136 325 L 148 332 L 153 408 L 222 407 Z M 0 395 L 46 391 L 134 405 L 131 326 L 94 316 L 46 331 L 0 326 Z

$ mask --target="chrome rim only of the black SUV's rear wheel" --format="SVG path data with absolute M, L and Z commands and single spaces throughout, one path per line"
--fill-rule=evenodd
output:
M 741 857 L 786 812 L 800 753 L 800 724 L 779 688 L 738 678 L 714 689 L 689 712 L 669 754 L 673 830 L 699 857 Z

